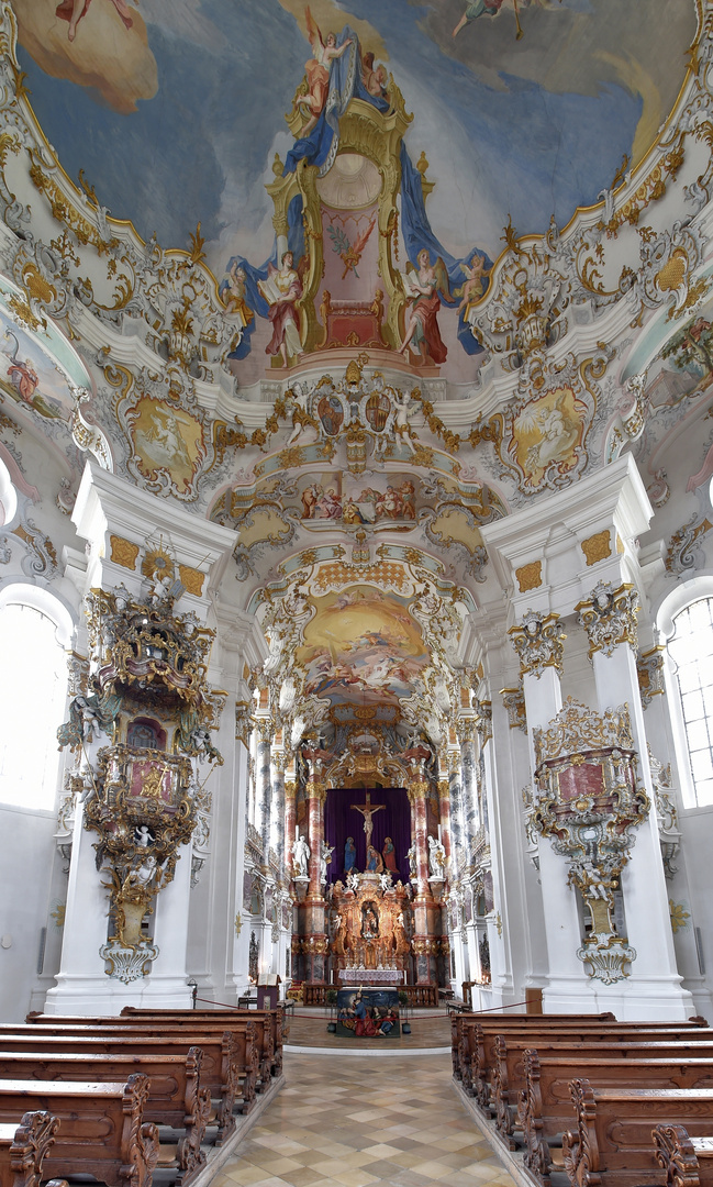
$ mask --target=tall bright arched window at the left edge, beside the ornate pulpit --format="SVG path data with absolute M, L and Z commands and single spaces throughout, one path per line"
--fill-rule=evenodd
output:
M 71 620 L 51 595 L 27 589 L 27 599 L 23 586 L 0 592 L 0 802 L 52 810 Z

